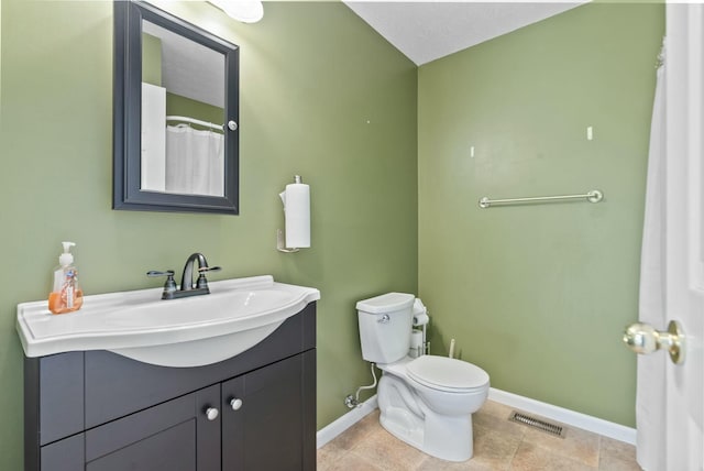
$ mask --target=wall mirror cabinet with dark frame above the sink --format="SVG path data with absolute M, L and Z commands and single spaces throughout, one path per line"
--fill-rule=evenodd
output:
M 239 213 L 239 47 L 114 2 L 113 209 Z

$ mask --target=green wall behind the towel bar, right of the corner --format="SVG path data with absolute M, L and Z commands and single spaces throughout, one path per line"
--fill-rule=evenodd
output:
M 590 4 L 421 66 L 419 293 L 492 385 L 635 425 L 658 4 Z M 586 140 L 593 127 L 594 139 Z M 471 147 L 474 146 L 474 157 Z M 604 201 L 477 200 L 604 191 Z

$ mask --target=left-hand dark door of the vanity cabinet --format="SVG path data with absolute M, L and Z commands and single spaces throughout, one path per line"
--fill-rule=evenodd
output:
M 219 404 L 213 385 L 88 430 L 86 470 L 219 471 Z

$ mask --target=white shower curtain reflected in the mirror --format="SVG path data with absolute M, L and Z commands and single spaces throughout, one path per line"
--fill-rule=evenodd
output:
M 167 125 L 166 191 L 224 196 L 224 136 L 184 124 Z

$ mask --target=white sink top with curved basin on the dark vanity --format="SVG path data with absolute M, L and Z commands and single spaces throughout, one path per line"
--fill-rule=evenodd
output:
M 46 300 L 18 305 L 16 329 L 28 357 L 109 350 L 163 366 L 199 366 L 234 357 L 272 333 L 316 288 L 272 276 L 210 282 L 210 294 L 162 300 L 162 289 L 84 297 L 82 307 L 52 315 Z

